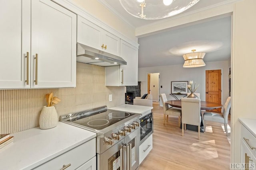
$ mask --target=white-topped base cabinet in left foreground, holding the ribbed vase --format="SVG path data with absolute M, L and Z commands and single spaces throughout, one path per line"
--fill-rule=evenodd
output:
M 39 127 L 11 134 L 14 142 L 0 152 L 0 169 L 96 170 L 96 133 L 58 122 L 52 129 Z

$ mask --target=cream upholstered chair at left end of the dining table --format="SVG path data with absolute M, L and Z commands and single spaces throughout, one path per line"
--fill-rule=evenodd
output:
M 166 122 L 168 121 L 168 115 L 178 116 L 178 123 L 179 123 L 179 127 L 180 127 L 181 110 L 169 108 L 168 104 L 166 103 L 167 102 L 166 94 L 162 93 L 159 96 L 160 96 L 160 99 L 161 99 L 163 107 L 164 107 L 164 124 L 165 124 L 165 120 L 166 120 Z M 167 115 L 167 118 L 166 118 L 166 115 Z

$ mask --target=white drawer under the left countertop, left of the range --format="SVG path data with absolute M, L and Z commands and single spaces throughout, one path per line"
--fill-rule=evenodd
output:
M 63 165 L 71 164 L 66 170 L 73 170 L 96 156 L 96 138 L 71 149 L 52 160 L 36 167 L 36 170 L 61 169 Z

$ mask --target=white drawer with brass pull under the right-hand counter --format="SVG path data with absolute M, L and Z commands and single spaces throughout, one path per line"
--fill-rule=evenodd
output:
M 250 148 L 252 154 L 256 155 L 256 138 L 243 125 L 241 126 L 241 138 L 242 141 L 246 143 L 246 146 Z M 245 140 L 244 138 L 248 140 Z M 254 147 L 255 149 L 252 149 L 251 147 Z

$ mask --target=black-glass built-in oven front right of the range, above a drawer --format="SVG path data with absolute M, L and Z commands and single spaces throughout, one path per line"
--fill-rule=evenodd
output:
M 140 117 L 140 145 L 153 133 L 153 113 Z

